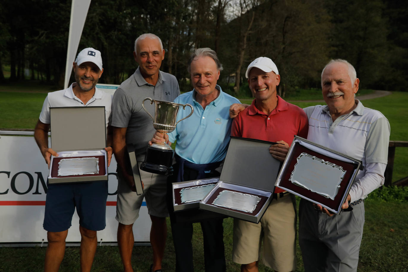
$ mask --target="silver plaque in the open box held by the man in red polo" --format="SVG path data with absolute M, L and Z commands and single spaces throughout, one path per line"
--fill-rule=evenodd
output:
M 256 195 L 223 190 L 214 199 L 213 205 L 252 213 L 261 198 Z

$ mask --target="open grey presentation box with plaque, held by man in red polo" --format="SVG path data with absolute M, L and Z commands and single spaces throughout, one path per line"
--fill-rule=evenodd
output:
M 200 209 L 258 223 L 273 197 L 280 162 L 275 144 L 231 137 L 220 181 L 200 201 Z

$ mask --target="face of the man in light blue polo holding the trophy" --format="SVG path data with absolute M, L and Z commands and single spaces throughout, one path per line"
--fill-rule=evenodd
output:
M 190 65 L 191 83 L 197 95 L 200 97 L 217 98 L 215 86 L 220 77 L 220 71 L 217 69 L 217 64 L 212 57 L 198 57 L 193 60 Z M 197 99 L 197 97 L 196 97 Z

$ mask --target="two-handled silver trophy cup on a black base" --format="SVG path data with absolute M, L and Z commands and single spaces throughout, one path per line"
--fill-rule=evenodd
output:
M 150 104 L 155 104 L 155 114 L 154 117 L 146 110 L 144 107 L 144 102 L 150 100 Z M 191 108 L 191 113 L 186 117 L 180 119 L 176 122 L 177 113 L 180 107 L 186 109 L 186 106 Z M 153 119 L 153 127 L 155 130 L 161 133 L 169 133 L 175 130 L 176 125 L 181 120 L 190 117 L 193 114 L 193 106 L 190 104 L 178 104 L 162 100 L 152 100 L 147 97 L 142 102 L 142 107 Z M 140 169 L 146 172 L 151 172 L 155 174 L 169 175 L 173 172 L 173 167 L 171 166 L 173 162 L 174 150 L 166 143 L 156 144 L 153 143 L 151 146 L 147 146 L 146 157 L 143 163 L 140 165 Z

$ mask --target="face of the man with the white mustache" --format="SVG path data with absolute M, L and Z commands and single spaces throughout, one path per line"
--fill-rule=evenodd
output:
M 354 94 L 358 91 L 359 79 L 351 82 L 345 63 L 329 64 L 322 74 L 323 99 L 330 113 L 344 115 L 355 108 Z

